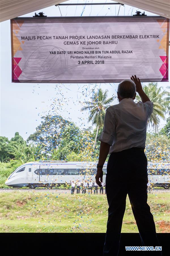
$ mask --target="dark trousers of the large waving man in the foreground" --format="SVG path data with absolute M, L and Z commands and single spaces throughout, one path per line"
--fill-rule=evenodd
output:
M 104 256 L 118 255 L 127 194 L 142 245 L 160 246 L 153 215 L 147 204 L 147 183 L 147 158 L 144 150 L 123 150 L 109 156 L 106 174 L 106 195 L 109 208 Z M 133 246 L 133 241 L 131 246 Z M 162 255 L 162 253 L 161 251 L 145 251 L 145 255 Z

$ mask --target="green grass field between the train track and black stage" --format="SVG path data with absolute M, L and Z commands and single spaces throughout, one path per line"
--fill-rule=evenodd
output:
M 148 194 L 157 232 L 169 232 L 169 193 Z M 0 232 L 105 232 L 106 195 L 59 193 L 55 190 L 1 193 Z M 122 232 L 138 232 L 129 198 Z

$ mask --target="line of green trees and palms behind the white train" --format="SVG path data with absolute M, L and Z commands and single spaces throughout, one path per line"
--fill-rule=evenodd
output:
M 143 90 L 154 103 L 153 113 L 148 119 L 148 127 L 155 133 L 147 133 L 145 154 L 148 160 L 168 160 L 170 139 L 170 117 L 167 124 L 158 131 L 160 118 L 165 119 L 169 112 L 170 94 L 158 88 L 157 83 L 149 83 Z M 88 121 L 95 125 L 80 129 L 74 122 L 63 119 L 60 115 L 41 117 L 41 124 L 36 127 L 27 141 L 15 133 L 8 140 L 0 137 L 0 161 L 20 160 L 22 163 L 38 160 L 97 161 L 99 157 L 99 136 L 103 130 L 106 109 L 112 105 L 116 96 L 108 98 L 108 90 L 94 92 L 90 101 L 85 101 L 81 111 L 89 111 Z M 139 101 L 139 96 L 136 97 Z

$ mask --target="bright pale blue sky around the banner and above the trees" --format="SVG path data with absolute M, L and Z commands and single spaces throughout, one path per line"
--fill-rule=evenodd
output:
M 96 1 L 67 1 L 66 3 L 91 3 Z M 112 3 L 112 1 L 98 1 Z M 120 9 L 119 9 L 120 7 Z M 133 15 L 137 8 L 128 5 L 61 6 L 62 16 L 127 16 Z M 52 6 L 37 10 L 48 17 L 61 16 L 59 7 Z M 143 12 L 143 10 L 138 9 Z M 23 15 L 32 17 L 35 12 Z M 145 11 L 146 15 L 155 15 Z M 11 139 L 15 132 L 26 140 L 41 123 L 41 116 L 59 114 L 75 122 L 81 128 L 92 126 L 88 123 L 88 112 L 80 112 L 81 102 L 90 100 L 92 89 L 108 89 L 108 98 L 116 95 L 117 83 L 111 84 L 33 84 L 11 82 L 11 39 L 10 20 L 0 23 L 1 50 L 1 131 L 0 135 Z M 133 74 L 132 74 L 133 75 Z M 145 83 L 143 83 L 145 84 Z M 147 84 L 147 83 L 146 83 Z M 164 89 L 169 82 L 159 82 Z M 55 100 L 56 98 L 56 100 Z M 113 104 L 117 104 L 117 100 Z M 161 120 L 160 128 L 166 121 Z M 93 127 L 94 128 L 94 127 Z M 152 129 L 150 130 L 152 131 Z

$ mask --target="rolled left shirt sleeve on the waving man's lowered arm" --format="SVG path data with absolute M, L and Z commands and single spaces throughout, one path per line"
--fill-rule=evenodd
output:
M 115 115 L 106 110 L 103 131 L 99 137 L 99 141 L 103 141 L 112 146 L 115 134 Z

